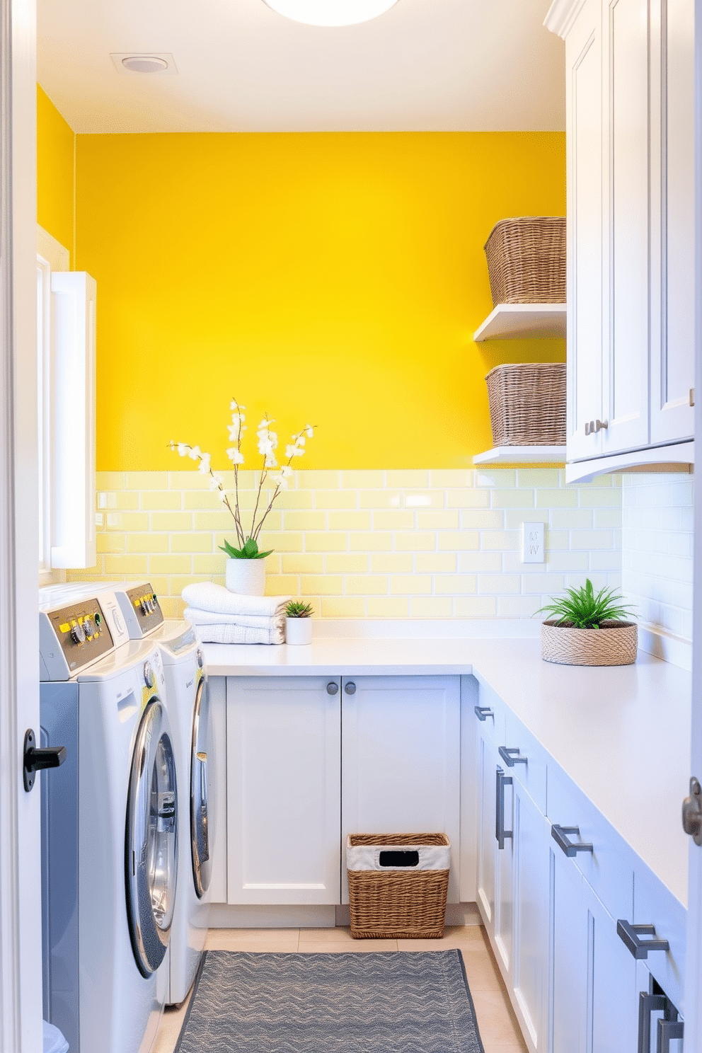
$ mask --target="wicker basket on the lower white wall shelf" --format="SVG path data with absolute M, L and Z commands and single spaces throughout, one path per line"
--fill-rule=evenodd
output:
M 565 363 L 496 365 L 485 377 L 493 445 L 565 445 Z

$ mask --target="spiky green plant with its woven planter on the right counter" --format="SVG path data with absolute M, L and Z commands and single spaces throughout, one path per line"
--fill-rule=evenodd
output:
M 541 657 L 562 665 L 630 665 L 638 632 L 630 608 L 614 589 L 595 592 L 587 578 L 541 608 L 554 617 L 541 625 Z

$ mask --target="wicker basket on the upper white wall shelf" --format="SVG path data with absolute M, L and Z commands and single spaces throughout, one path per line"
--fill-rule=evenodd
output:
M 565 217 L 501 219 L 485 242 L 493 304 L 565 303 Z

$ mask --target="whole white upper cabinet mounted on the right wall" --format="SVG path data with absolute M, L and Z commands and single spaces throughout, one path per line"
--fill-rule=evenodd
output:
M 555 0 L 546 25 L 566 56 L 567 460 L 645 463 L 694 434 L 694 0 Z

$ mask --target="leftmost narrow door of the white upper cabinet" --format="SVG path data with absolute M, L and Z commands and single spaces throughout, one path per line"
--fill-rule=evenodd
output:
M 602 6 L 585 0 L 565 42 L 567 164 L 567 458 L 597 457 L 602 432 Z

